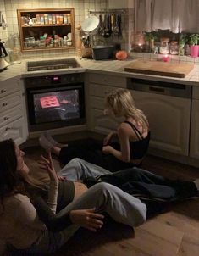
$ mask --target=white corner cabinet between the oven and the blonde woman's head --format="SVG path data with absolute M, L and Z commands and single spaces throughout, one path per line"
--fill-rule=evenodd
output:
M 104 115 L 103 109 L 106 95 L 119 87 L 126 87 L 124 77 L 89 74 L 86 85 L 86 116 L 89 131 L 108 134 L 117 128 L 121 120 Z

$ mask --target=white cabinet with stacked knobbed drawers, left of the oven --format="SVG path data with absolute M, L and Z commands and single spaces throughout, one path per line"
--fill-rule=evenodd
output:
M 0 83 L 0 140 L 13 138 L 18 145 L 28 136 L 24 86 L 19 77 Z

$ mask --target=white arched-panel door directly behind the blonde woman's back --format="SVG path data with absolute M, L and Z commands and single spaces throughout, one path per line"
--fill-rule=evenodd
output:
M 149 120 L 150 147 L 188 155 L 191 100 L 137 91 L 132 95 Z

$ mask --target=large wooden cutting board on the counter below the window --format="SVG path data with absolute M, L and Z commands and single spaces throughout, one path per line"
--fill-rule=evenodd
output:
M 193 68 L 194 64 L 173 64 L 159 61 L 136 60 L 126 66 L 124 71 L 184 78 Z

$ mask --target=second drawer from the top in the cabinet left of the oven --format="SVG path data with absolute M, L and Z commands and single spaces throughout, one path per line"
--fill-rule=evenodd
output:
M 0 98 L 0 113 L 12 109 L 17 105 L 20 105 L 22 102 L 21 93 L 16 92 L 12 96 Z

